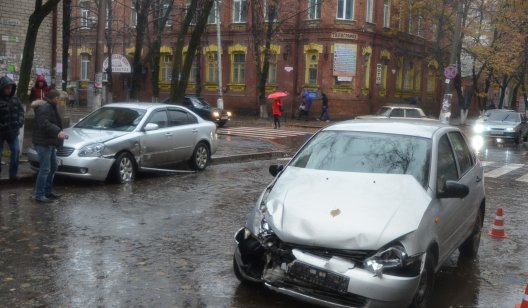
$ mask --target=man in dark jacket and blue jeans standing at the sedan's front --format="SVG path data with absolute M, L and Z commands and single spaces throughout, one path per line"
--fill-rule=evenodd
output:
M 59 98 L 59 91 L 50 90 L 43 100 L 31 103 L 35 111 L 33 145 L 39 159 L 35 200 L 41 203 L 51 203 L 60 198 L 60 195 L 53 191 L 53 178 L 57 171 L 57 146 L 62 145 L 64 141 L 62 121 L 57 111 Z

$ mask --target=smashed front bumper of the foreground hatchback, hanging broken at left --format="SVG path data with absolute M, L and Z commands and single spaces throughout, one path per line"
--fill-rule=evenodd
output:
M 235 235 L 237 275 L 305 302 L 327 307 L 406 307 L 419 285 L 419 275 L 374 276 L 362 268 L 358 256 L 365 256 L 364 252 L 347 257 L 343 251 L 289 245 L 274 235 L 247 236 L 247 231 L 243 228 Z

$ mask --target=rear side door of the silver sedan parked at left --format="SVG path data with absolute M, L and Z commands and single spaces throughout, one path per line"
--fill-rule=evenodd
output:
M 173 156 L 175 161 L 184 161 L 191 157 L 198 142 L 198 119 L 181 108 L 167 110 L 169 126 L 174 136 Z

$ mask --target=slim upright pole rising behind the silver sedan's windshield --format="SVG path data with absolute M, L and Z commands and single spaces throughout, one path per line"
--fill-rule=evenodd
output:
M 95 106 L 94 109 L 101 107 L 103 95 L 103 57 L 105 41 L 105 24 L 106 24 L 106 0 L 99 0 L 99 10 L 97 13 L 97 36 L 95 46 Z M 109 59 L 111 61 L 111 59 Z

